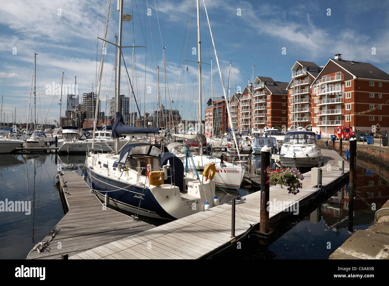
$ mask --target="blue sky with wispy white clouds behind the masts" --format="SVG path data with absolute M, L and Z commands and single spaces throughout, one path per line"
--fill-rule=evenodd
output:
M 98 74 L 109 0 L 13 0 L 0 6 L 0 95 L 3 116 L 26 122 L 34 53 L 37 53 L 37 121 L 60 115 L 60 84 L 74 84 L 78 94 L 97 93 Z M 343 60 L 370 62 L 389 73 L 389 2 L 386 1 L 235 1 L 205 0 L 224 85 L 242 91 L 254 77 L 291 81 L 296 60 L 324 66 L 334 54 Z M 139 108 L 152 112 L 157 103 L 178 109 L 185 120 L 198 109 L 196 1 L 124 0 L 121 94 L 131 95 L 130 77 Z M 107 41 L 119 33 L 117 2 L 110 4 Z M 152 36 L 151 36 L 152 35 Z M 223 95 L 203 0 L 200 0 L 202 114 L 211 97 Z M 114 46 L 106 44 L 100 100 L 109 112 L 114 97 Z M 165 63 L 163 52 L 165 51 Z M 283 53 L 284 51 L 284 53 Z M 187 61 L 186 61 L 187 60 Z M 165 66 L 165 68 L 164 68 Z M 165 84 L 166 82 L 166 84 Z M 54 84 L 53 84 L 54 83 Z M 75 90 L 74 86 L 73 89 Z M 54 92 L 53 92 L 54 91 Z M 66 92 L 66 90 L 64 91 Z M 166 94 L 166 95 L 165 95 Z M 166 98 L 166 99 L 165 99 Z M 183 98 L 183 100 L 181 100 Z M 61 108 L 65 115 L 66 95 Z M 81 100 L 80 100 L 81 103 Z M 31 107 L 33 107 L 33 96 Z M 135 107 L 135 109 L 137 109 Z M 31 109 L 30 109 L 31 110 Z M 31 112 L 30 112 L 31 113 Z M 30 114 L 31 118 L 31 114 Z M 2 121 L 2 120 L 0 120 Z

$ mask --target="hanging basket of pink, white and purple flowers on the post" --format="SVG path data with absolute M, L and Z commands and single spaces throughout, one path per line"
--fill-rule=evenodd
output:
M 304 177 L 296 168 L 282 168 L 272 170 L 270 167 L 266 169 L 268 181 L 266 184 L 280 186 L 282 189 L 287 186 L 288 193 L 297 195 L 303 187 L 301 182 Z

